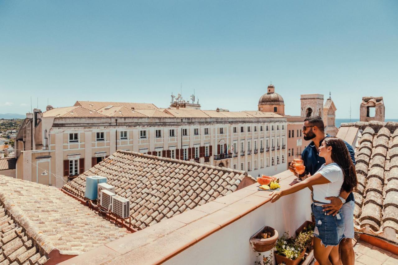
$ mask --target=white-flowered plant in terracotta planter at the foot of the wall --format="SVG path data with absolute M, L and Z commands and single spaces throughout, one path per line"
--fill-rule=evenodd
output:
M 289 237 L 287 232 L 278 239 L 275 246 L 276 263 L 286 265 L 297 265 L 304 258 L 306 247 L 302 242 L 296 242 L 295 238 Z

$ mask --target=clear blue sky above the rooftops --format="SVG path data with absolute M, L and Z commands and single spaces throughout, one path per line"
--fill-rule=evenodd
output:
M 0 113 L 76 100 L 150 102 L 195 90 L 202 109 L 255 110 L 270 81 L 332 92 L 337 118 L 365 95 L 398 118 L 398 1 L 0 1 Z

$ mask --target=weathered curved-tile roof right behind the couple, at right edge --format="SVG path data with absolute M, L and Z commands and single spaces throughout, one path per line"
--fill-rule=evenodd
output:
M 371 121 L 341 126 L 359 129 L 355 146 L 359 182 L 354 192 L 356 229 L 398 243 L 398 123 Z

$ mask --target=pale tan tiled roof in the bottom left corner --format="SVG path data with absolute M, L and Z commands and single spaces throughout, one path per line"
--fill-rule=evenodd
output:
M 5 228 L 14 224 L 17 232 L 24 233 L 18 237 L 15 233 L 3 235 L 4 257 L 9 253 L 19 256 L 24 253 L 23 247 L 29 250 L 32 246 L 39 246 L 45 255 L 53 250 L 77 255 L 128 234 L 125 228 L 115 226 L 52 186 L 0 175 L 0 201 L 5 209 L 0 210 L 2 232 L 11 233 Z M 30 243 L 25 236 L 32 239 Z M 6 251 L 5 243 L 10 238 L 15 238 L 13 249 Z

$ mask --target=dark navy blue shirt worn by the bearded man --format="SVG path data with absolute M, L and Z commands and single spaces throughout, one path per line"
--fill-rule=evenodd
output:
M 330 137 L 329 135 L 326 137 Z M 319 145 L 321 145 L 323 142 L 320 141 Z M 347 146 L 349 155 L 351 156 L 351 160 L 354 163 L 355 166 L 355 152 L 354 149 L 352 148 L 352 146 L 345 142 L 345 145 Z M 308 144 L 308 146 L 304 149 L 304 151 L 302 151 L 301 153 L 301 157 L 302 160 L 304 161 L 304 166 L 305 166 L 305 171 L 306 173 L 310 173 L 311 175 L 314 175 L 316 171 L 318 171 L 318 169 L 320 169 L 320 167 L 325 164 L 325 158 L 319 156 L 319 150 L 315 147 L 314 142 L 310 142 L 310 144 Z M 345 200 L 346 203 L 349 201 L 354 201 L 354 195 L 351 192 L 347 199 Z

